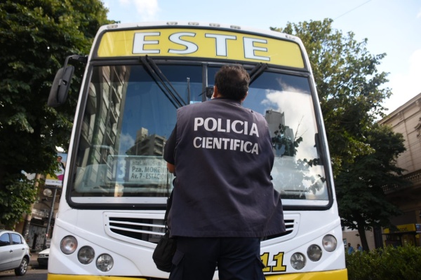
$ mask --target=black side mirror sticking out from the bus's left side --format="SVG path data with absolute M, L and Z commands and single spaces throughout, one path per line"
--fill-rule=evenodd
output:
M 70 80 L 72 80 L 74 66 L 66 66 L 58 69 L 55 74 L 47 105 L 57 107 L 65 103 L 69 92 Z

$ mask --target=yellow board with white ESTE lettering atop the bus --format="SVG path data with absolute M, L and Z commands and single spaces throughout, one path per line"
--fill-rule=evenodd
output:
M 281 38 L 215 29 L 107 31 L 97 57 L 165 56 L 232 59 L 305 68 L 300 45 Z

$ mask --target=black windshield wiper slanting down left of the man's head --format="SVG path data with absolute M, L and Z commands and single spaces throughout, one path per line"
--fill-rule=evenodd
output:
M 156 66 L 154 60 L 147 55 L 145 57 L 140 57 L 140 61 L 144 64 L 149 71 L 152 78 L 154 78 L 156 85 L 158 85 L 162 92 L 166 95 L 168 100 L 175 106 L 175 108 L 180 108 L 187 105 L 187 103 L 180 97 L 177 90 L 171 85 L 170 81 L 166 76 L 161 72 L 158 66 Z M 169 85 L 169 87 L 168 87 Z

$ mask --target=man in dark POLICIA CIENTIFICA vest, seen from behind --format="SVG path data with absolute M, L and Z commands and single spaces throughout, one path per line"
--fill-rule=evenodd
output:
M 177 239 L 170 279 L 265 279 L 260 238 L 285 231 L 265 118 L 241 106 L 248 73 L 222 66 L 213 99 L 177 111 L 164 158 L 175 174 L 170 212 Z

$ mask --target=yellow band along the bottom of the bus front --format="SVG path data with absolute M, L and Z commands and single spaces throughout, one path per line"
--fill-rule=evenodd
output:
M 266 280 L 347 280 L 347 269 L 325 272 L 302 272 L 293 274 L 266 275 Z M 93 275 L 64 275 L 48 274 L 48 280 L 147 280 L 123 276 L 93 276 Z

